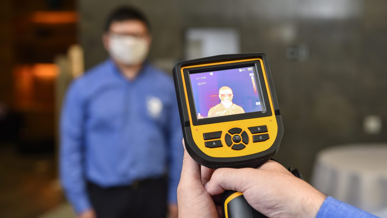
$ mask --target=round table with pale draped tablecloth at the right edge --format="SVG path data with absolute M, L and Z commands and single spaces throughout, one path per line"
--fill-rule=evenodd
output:
M 370 213 L 387 209 L 387 144 L 348 144 L 317 154 L 312 185 Z

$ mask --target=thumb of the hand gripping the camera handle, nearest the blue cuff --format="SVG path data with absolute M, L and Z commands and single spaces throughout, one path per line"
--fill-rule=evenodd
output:
M 219 168 L 214 171 L 209 182 L 204 185 L 204 189 L 212 196 L 224 192 L 224 190 L 234 190 L 238 192 L 245 192 L 250 187 L 251 178 L 246 178 L 260 173 L 259 170 L 253 168 Z

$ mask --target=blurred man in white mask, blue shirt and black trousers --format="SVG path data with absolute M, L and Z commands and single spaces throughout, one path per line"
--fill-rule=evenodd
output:
M 63 105 L 63 189 L 79 218 L 164 218 L 167 202 L 177 217 L 183 136 L 173 81 L 146 61 L 151 35 L 138 10 L 115 10 L 104 31 L 110 59 L 73 81 Z

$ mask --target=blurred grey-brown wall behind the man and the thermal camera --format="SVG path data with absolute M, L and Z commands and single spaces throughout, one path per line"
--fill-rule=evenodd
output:
M 104 19 L 125 3 L 144 10 L 151 21 L 153 61 L 182 60 L 183 34 L 190 27 L 236 28 L 241 52 L 265 52 L 285 127 L 276 158 L 305 178 L 321 149 L 387 141 L 385 1 L 80 0 L 86 68 L 106 58 Z M 306 58 L 287 56 L 294 47 L 306 48 Z M 384 121 L 377 135 L 363 131 L 370 114 Z

